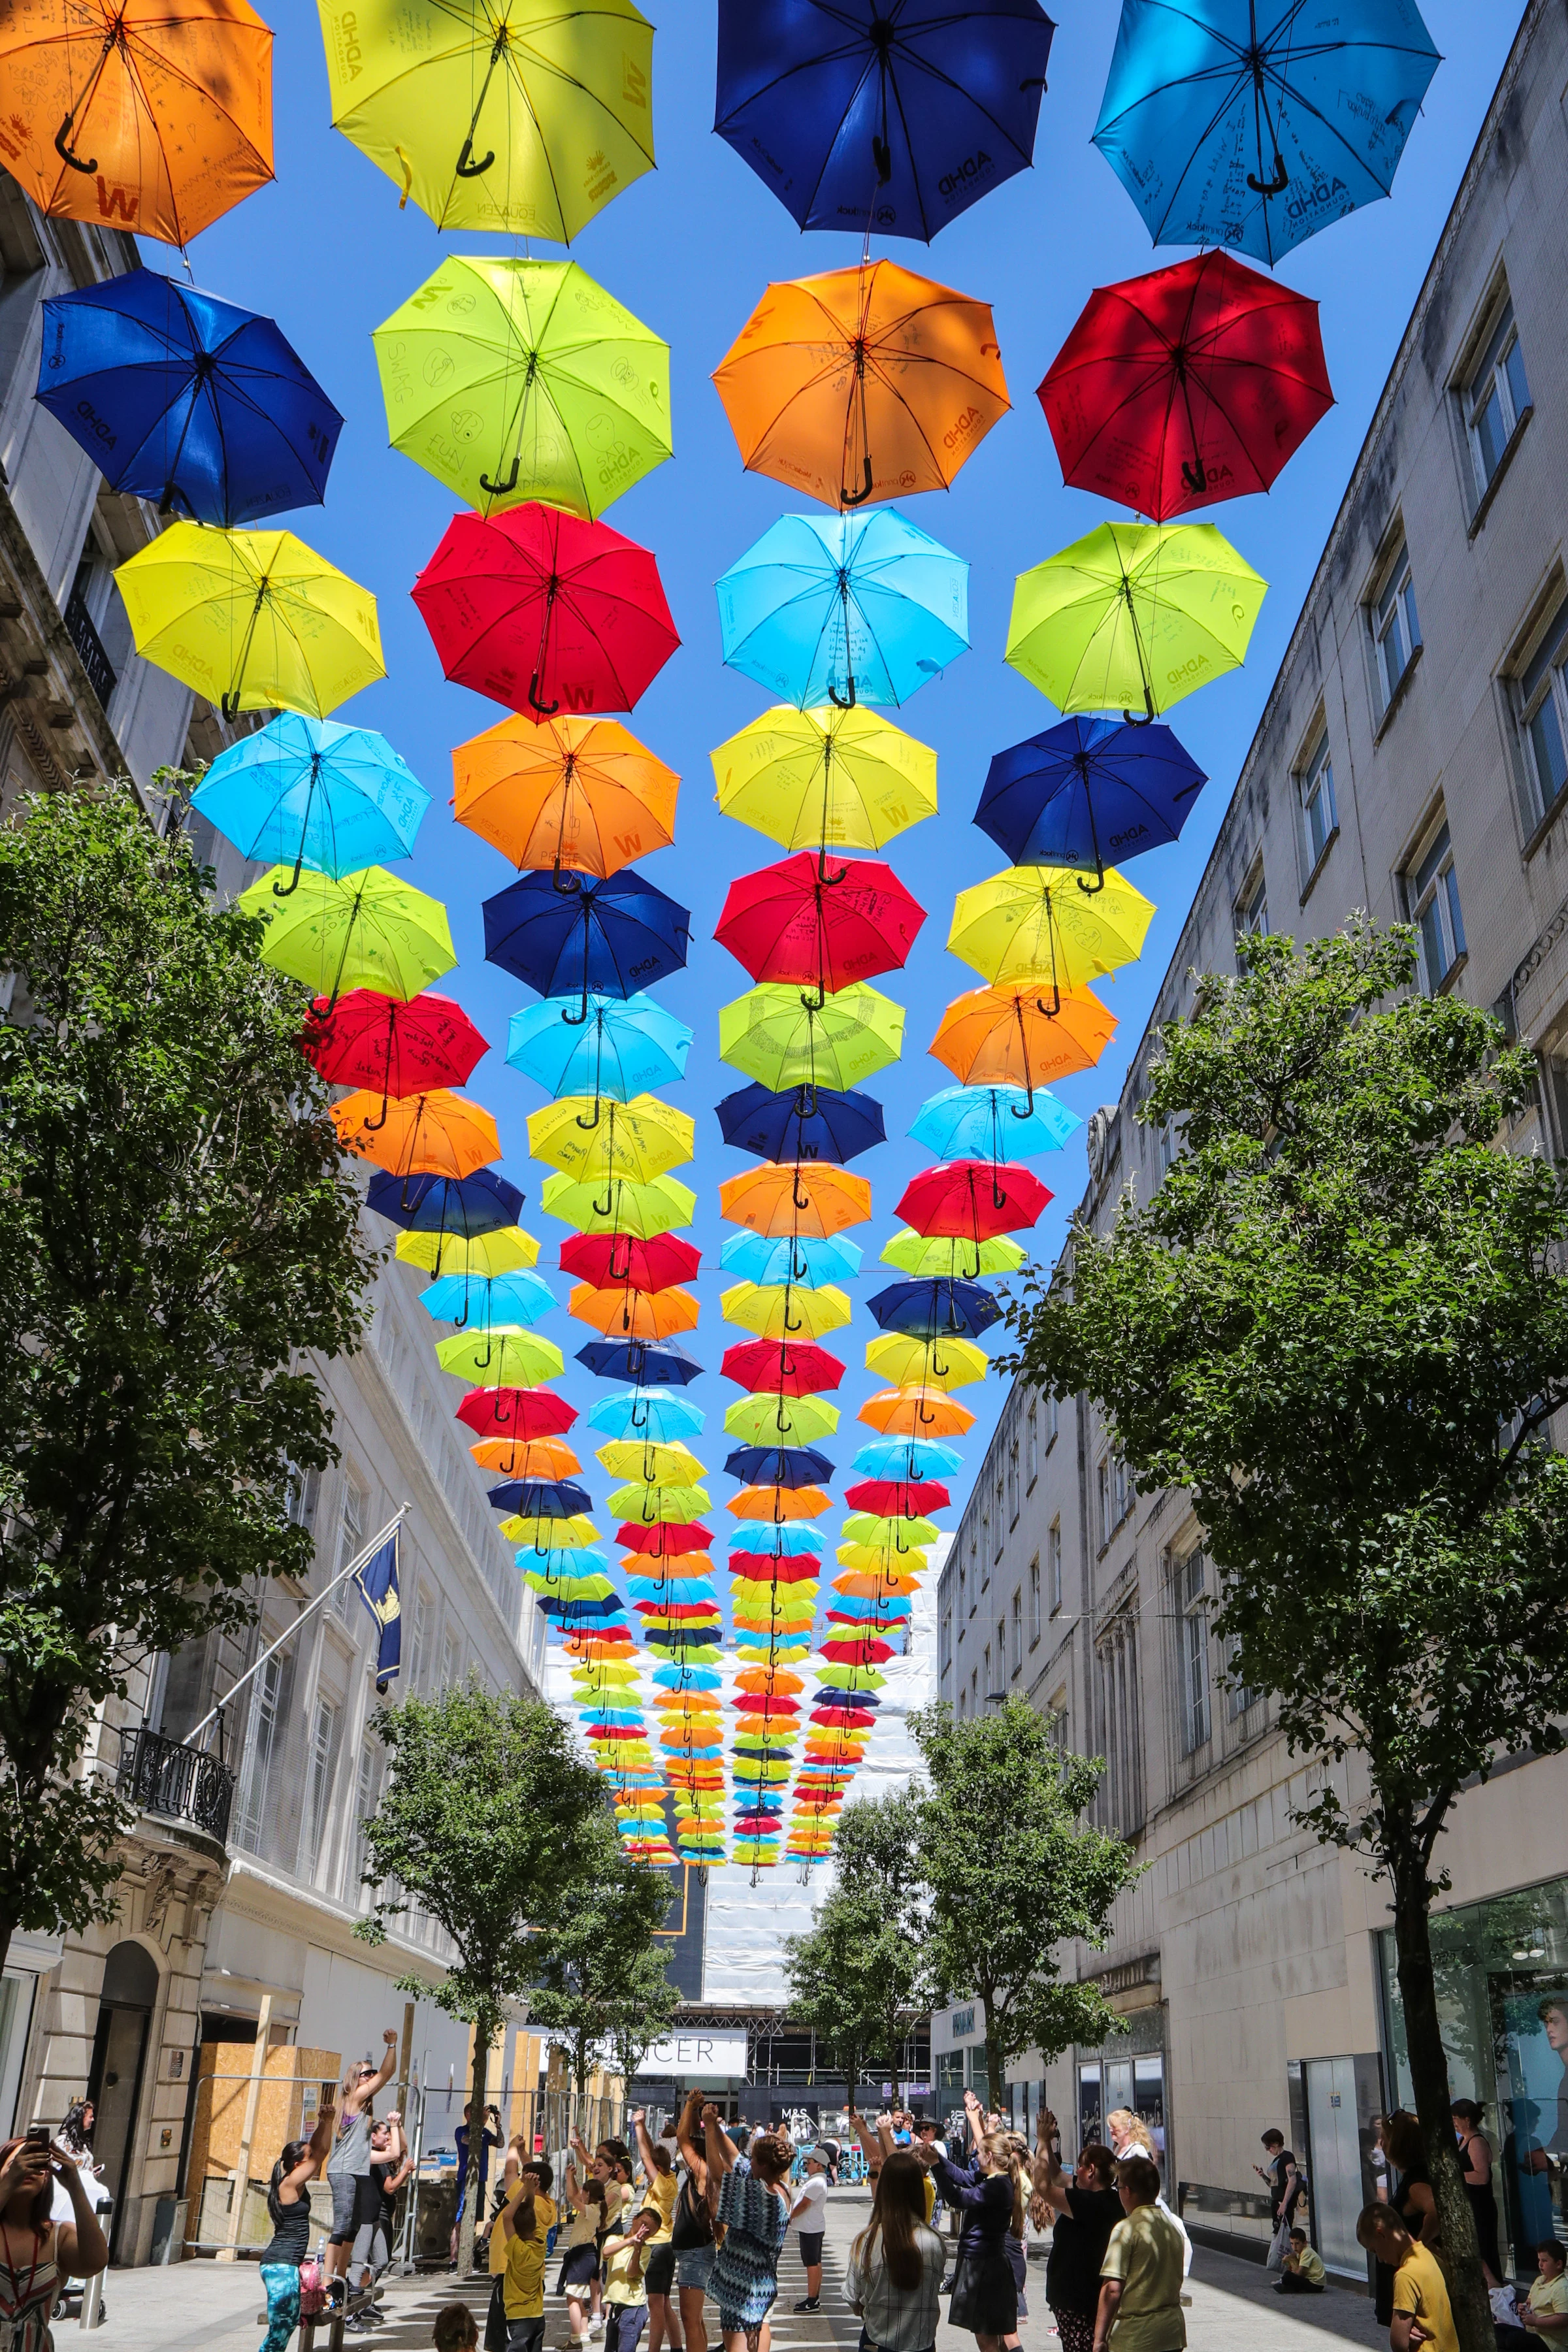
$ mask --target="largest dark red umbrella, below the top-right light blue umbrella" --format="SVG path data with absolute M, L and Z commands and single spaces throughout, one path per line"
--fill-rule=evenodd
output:
M 1039 402 L 1072 489 L 1154 522 L 1241 499 L 1333 407 L 1316 303 L 1220 249 L 1098 287 Z

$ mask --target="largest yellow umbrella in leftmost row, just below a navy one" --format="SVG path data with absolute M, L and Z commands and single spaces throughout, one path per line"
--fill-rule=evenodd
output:
M 136 652 L 240 710 L 327 717 L 386 677 L 376 597 L 294 532 L 172 522 L 115 569 Z

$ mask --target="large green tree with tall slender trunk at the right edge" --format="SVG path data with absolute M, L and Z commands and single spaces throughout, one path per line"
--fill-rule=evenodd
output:
M 1460 1788 L 1568 1712 L 1568 1202 L 1507 1148 L 1535 1065 L 1408 931 L 1251 938 L 1164 1030 L 1185 1122 L 1154 1200 L 1020 1303 L 1020 1367 L 1088 1390 L 1143 1484 L 1187 1486 L 1234 1675 L 1321 1759 L 1302 1820 L 1387 1875 L 1410 2079 L 1465 2352 L 1490 2352 L 1432 1973 Z M 1338 1766 L 1347 1766 L 1347 1771 Z

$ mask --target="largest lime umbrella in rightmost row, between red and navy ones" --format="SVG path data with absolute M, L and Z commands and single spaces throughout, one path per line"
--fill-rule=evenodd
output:
M 1103 522 L 1018 574 L 1006 659 L 1058 710 L 1152 720 L 1241 668 L 1265 595 L 1213 522 Z

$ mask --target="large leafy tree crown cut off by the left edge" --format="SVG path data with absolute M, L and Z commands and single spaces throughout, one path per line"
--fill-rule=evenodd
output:
M 299 1355 L 357 1345 L 374 1258 L 261 934 L 129 788 L 0 830 L 0 1957 L 115 1915 L 92 1710 L 310 1566 Z

